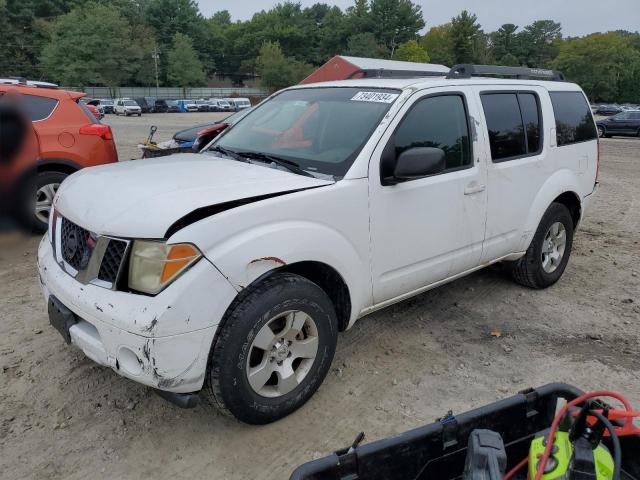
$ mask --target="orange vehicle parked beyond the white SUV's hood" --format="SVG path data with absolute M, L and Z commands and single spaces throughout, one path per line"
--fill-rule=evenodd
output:
M 118 161 L 111 127 L 78 101 L 84 96 L 36 82 L 0 80 L 0 98 L 15 100 L 33 125 L 23 153 L 0 170 L 0 184 L 11 188 L 11 197 L 37 232 L 46 230 L 53 196 L 67 176 Z

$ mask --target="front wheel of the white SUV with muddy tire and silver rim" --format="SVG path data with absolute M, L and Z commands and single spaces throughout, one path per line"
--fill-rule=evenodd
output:
M 300 408 L 327 375 L 338 338 L 326 293 L 288 273 L 249 287 L 220 328 L 203 393 L 250 424 L 270 423 Z

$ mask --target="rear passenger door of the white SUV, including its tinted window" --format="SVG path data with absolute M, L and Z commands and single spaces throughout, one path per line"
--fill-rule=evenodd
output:
M 482 134 L 487 139 L 484 145 L 489 193 L 481 259 L 485 263 L 521 251 L 533 235 L 523 227 L 530 206 L 553 170 L 547 151 L 555 123 L 549 116 L 551 104 L 543 89 L 474 90 L 483 105 Z M 539 102 L 537 115 L 530 106 L 532 98 Z

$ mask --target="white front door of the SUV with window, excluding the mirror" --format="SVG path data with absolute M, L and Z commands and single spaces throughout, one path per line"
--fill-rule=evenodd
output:
M 369 189 L 375 303 L 443 280 L 480 261 L 487 189 L 482 150 L 473 128 L 470 130 L 477 118 L 477 104 L 467 101 L 465 113 L 464 100 L 470 90 L 451 88 L 446 93 L 449 95 L 444 96 L 457 100 L 416 93 L 372 156 Z M 396 154 L 409 147 L 442 148 L 448 168 L 437 175 L 383 185 L 380 163 L 390 142 Z M 480 155 L 474 156 L 477 152 Z M 386 162 L 384 177 L 389 175 L 384 172 Z

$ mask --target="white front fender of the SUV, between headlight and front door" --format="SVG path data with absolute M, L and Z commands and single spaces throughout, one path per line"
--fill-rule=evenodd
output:
M 366 179 L 342 180 L 269 198 L 200 220 L 169 241 L 197 245 L 237 291 L 285 265 L 328 265 L 347 284 L 353 322 L 373 301 L 367 189 Z

